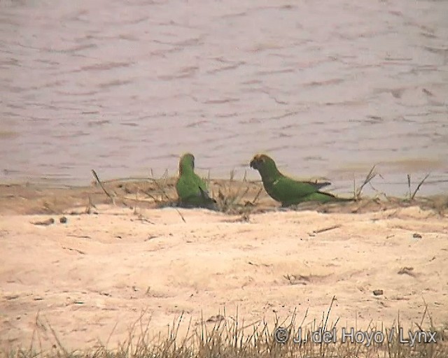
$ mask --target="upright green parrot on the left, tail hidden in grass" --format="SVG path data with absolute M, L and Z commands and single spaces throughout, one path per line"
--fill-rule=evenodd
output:
M 209 196 L 204 180 L 195 173 L 195 157 L 191 153 L 184 154 L 179 161 L 176 192 L 181 206 L 207 208 L 216 203 L 216 200 Z

